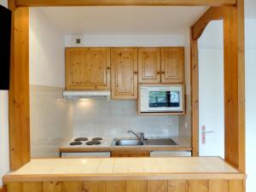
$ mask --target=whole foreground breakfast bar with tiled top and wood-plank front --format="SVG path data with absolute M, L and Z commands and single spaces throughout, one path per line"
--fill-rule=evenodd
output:
M 31 160 L 8 192 L 243 192 L 246 175 L 219 157 Z

